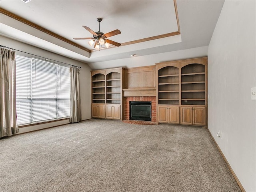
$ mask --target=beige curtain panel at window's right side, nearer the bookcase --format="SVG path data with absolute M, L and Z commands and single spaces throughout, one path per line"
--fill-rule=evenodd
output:
M 70 123 L 81 120 L 79 68 L 70 66 Z

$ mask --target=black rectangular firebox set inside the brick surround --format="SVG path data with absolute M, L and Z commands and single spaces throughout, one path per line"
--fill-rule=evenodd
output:
M 151 102 L 130 101 L 130 120 L 151 121 Z

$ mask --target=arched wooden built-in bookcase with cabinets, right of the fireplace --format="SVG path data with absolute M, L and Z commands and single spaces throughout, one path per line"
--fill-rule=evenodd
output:
M 206 125 L 207 58 L 156 64 L 157 122 Z

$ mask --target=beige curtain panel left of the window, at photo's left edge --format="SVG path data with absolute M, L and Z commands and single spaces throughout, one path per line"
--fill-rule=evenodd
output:
M 19 132 L 16 116 L 15 52 L 0 48 L 0 137 Z

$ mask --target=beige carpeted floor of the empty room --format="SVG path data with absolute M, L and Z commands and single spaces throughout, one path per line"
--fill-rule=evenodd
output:
M 208 130 L 87 120 L 0 140 L 1 192 L 240 192 Z

